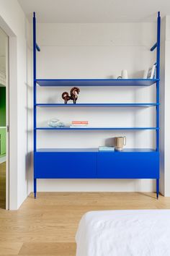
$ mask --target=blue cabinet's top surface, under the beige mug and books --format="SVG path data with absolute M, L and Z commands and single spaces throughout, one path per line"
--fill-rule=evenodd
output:
M 38 148 L 37 152 L 99 152 L 107 153 L 110 151 L 99 151 L 99 148 Z M 120 151 L 112 151 L 112 153 L 122 153 L 122 152 L 156 152 L 156 150 L 151 148 L 124 148 Z

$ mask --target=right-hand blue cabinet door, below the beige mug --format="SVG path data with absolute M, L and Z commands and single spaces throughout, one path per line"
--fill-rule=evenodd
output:
M 158 179 L 159 153 L 107 152 L 97 158 L 97 178 Z

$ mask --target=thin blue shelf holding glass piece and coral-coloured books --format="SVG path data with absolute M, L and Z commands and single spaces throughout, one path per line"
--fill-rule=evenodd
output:
M 37 129 L 40 129 L 40 130 L 55 130 L 55 129 L 60 129 L 60 130 L 63 130 L 63 129 L 68 129 L 68 130 L 72 130 L 72 129 L 79 129 L 79 130 L 91 130 L 91 129 L 94 129 L 94 130 L 103 130 L 103 129 L 109 129 L 109 130 L 120 130 L 120 129 L 134 129 L 134 130 L 139 130 L 139 129 L 153 129 L 153 130 L 157 130 L 159 128 L 157 127 L 37 127 L 35 128 L 35 130 Z

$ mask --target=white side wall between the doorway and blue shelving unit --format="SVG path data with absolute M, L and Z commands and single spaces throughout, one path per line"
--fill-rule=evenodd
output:
M 17 0 L 0 1 L 0 26 L 9 35 L 9 208 L 27 197 L 27 27 Z

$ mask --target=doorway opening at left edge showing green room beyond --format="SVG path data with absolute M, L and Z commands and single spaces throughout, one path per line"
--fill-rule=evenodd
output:
M 8 36 L 0 27 L 0 208 L 8 209 Z

